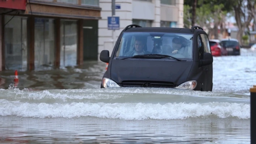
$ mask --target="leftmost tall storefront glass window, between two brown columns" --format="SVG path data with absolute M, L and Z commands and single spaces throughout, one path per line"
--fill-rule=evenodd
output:
M 8 22 L 9 21 L 9 22 Z M 27 19 L 5 16 L 5 68 L 27 69 Z

